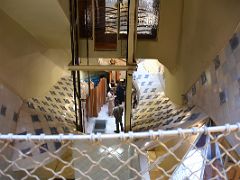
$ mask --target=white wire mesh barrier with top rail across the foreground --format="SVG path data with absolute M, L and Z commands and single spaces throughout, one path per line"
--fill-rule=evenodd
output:
M 120 134 L 1 134 L 0 179 L 239 179 L 239 132 L 240 124 Z

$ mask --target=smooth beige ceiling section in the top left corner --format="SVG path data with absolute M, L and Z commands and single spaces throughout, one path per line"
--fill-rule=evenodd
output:
M 54 49 L 70 48 L 70 26 L 63 6 L 66 3 L 58 0 L 0 1 L 0 8 L 8 16 L 45 46 Z

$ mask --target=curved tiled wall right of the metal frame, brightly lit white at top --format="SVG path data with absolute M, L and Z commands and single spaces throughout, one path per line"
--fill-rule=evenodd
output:
M 140 63 L 133 76 L 139 91 L 139 103 L 133 110 L 133 131 L 186 128 L 208 119 L 194 106 L 178 107 L 171 102 L 163 92 L 162 73 L 147 72 Z

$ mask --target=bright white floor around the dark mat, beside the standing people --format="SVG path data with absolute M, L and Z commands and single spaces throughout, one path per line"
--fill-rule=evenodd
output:
M 113 116 L 108 116 L 108 104 L 104 104 L 101 108 L 101 111 L 98 113 L 98 117 L 93 117 L 88 119 L 86 133 L 92 133 L 94 130 L 94 125 L 96 120 L 106 120 L 106 134 L 112 134 L 114 133 L 114 130 L 116 130 L 115 125 L 115 118 Z M 124 126 L 124 113 L 123 113 L 123 126 Z

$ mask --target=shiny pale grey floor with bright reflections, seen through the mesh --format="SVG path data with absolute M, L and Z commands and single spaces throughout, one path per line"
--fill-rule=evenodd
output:
M 121 159 L 125 162 L 129 159 L 129 156 L 131 156 L 130 151 L 132 147 L 129 144 L 120 143 L 120 140 L 115 139 L 103 141 L 100 146 L 96 145 L 96 147 L 93 148 L 88 142 L 79 143 L 78 141 L 75 141 L 74 147 L 79 151 L 92 149 L 91 152 L 88 153 L 88 156 L 82 156 L 78 151 L 74 151 L 73 158 L 79 158 L 79 160 L 74 163 L 74 166 L 82 172 L 87 172 L 88 169 L 92 167 L 92 170 L 85 175 L 94 180 L 116 179 L 111 175 L 117 176 L 119 179 L 131 179 L 136 176 L 135 172 L 131 172 L 127 166 L 122 166 L 122 162 L 119 161 L 119 159 Z M 103 157 L 104 159 L 102 159 Z M 90 159 L 97 163 L 93 166 Z M 133 158 L 130 163 L 132 166 L 133 163 L 137 165 L 138 157 L 136 156 Z M 138 166 L 135 165 L 134 167 L 138 169 Z M 104 167 L 104 169 L 102 167 Z M 111 174 L 109 172 L 111 172 Z M 75 171 L 75 178 L 88 179 L 87 177 L 83 177 L 83 175 L 77 171 Z

